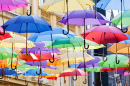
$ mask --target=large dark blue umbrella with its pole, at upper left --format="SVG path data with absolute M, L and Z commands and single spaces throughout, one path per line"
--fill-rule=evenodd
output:
M 6 31 L 26 33 L 26 51 L 27 33 L 40 33 L 51 30 L 51 26 L 44 19 L 38 16 L 31 16 L 31 14 L 28 13 L 27 15 L 20 15 L 9 19 L 4 24 L 4 27 Z

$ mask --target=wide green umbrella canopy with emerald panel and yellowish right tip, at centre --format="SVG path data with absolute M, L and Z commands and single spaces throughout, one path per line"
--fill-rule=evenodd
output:
M 99 45 L 93 41 L 86 40 L 86 45 L 89 45 L 89 48 L 97 49 L 103 47 L 102 45 Z M 68 47 L 83 47 L 84 46 L 84 40 L 80 36 L 75 36 L 74 38 L 68 38 L 68 39 L 59 39 L 53 41 L 53 47 L 54 48 L 68 48 Z M 52 42 L 48 42 L 46 44 L 47 48 L 52 48 Z

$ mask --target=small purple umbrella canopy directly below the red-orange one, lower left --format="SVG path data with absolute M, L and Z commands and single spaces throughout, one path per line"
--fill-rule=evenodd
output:
M 51 69 L 57 69 L 56 66 L 53 66 L 53 65 L 46 65 L 48 61 L 41 61 L 41 64 L 42 64 L 42 68 L 51 68 Z M 30 66 L 40 66 L 40 62 L 38 61 L 28 61 L 24 64 L 27 64 L 27 65 L 30 65 Z

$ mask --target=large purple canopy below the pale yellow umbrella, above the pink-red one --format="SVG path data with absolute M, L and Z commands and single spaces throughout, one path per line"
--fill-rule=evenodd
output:
M 69 25 L 103 25 L 109 21 L 101 13 L 96 12 L 97 18 L 95 19 L 95 11 L 93 10 L 75 10 L 68 14 Z M 59 22 L 67 24 L 67 15 L 63 16 Z

